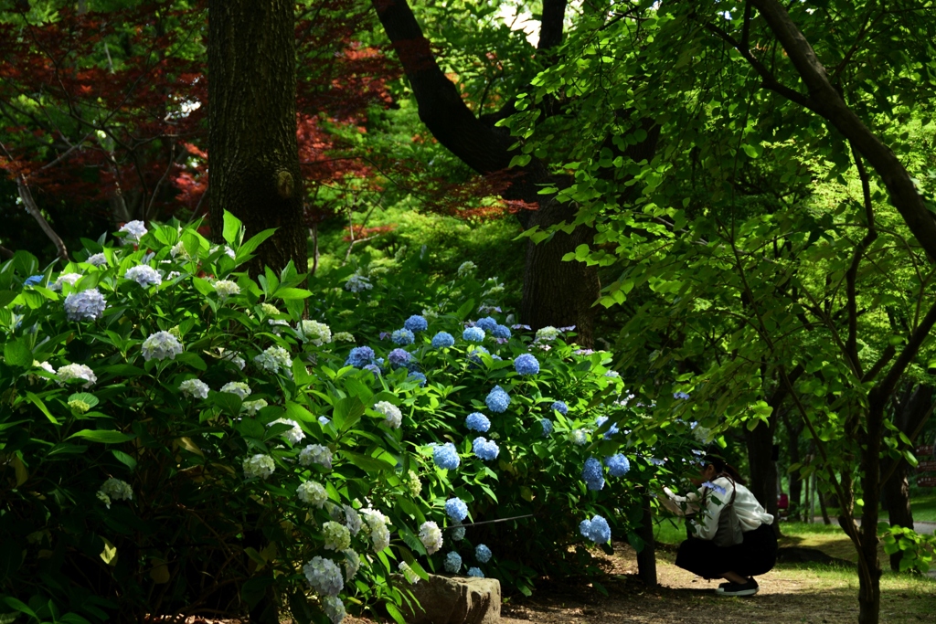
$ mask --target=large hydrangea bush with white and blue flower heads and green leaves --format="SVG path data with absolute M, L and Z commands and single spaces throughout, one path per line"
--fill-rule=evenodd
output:
M 338 622 L 381 602 L 402 621 L 398 570 L 528 593 L 587 568 L 596 535 L 637 544 L 642 488 L 678 472 L 663 457 L 687 436 L 629 435 L 651 408 L 609 354 L 517 325 L 473 270 L 424 285 L 418 254 L 308 289 L 291 265 L 252 278 L 269 235 L 230 215 L 220 246 L 135 224 L 58 272 L 0 266 L 10 608 L 136 621 L 275 600 Z

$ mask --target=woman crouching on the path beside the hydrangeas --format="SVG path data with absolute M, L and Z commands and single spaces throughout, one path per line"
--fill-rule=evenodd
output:
M 722 457 L 704 457 L 700 478 L 692 481 L 698 493 L 683 497 L 665 488 L 661 497 L 667 509 L 687 516 L 689 539 L 680 544 L 676 565 L 703 578 L 724 578 L 718 595 L 753 596 L 758 590 L 753 577 L 777 562 L 773 516 Z

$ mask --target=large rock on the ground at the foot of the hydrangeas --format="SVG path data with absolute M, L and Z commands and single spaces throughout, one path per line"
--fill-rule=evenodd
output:
M 399 576 L 394 574 L 394 576 Z M 501 621 L 501 582 L 496 578 L 440 576 L 409 585 L 423 610 L 403 610 L 408 624 L 497 624 Z

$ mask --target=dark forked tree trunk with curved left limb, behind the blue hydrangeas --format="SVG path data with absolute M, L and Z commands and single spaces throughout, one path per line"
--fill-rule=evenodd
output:
M 372 4 L 416 96 L 419 119 L 432 136 L 480 174 L 509 167 L 515 155 L 509 149 L 514 139 L 482 122 L 468 109 L 455 84 L 436 63 L 429 40 L 423 36 L 406 0 L 372 0 Z M 562 39 L 564 3 L 550 0 L 544 7 L 549 27 L 541 50 Z M 519 174 L 503 196 L 539 205 L 539 210 L 522 220 L 524 227 L 544 228 L 573 220 L 574 208 L 538 194 L 540 184 L 563 185 L 563 181 L 552 179 L 542 162 L 534 158 Z M 571 235 L 558 233 L 552 239 L 528 246 L 520 306 L 522 323 L 534 329 L 576 326 L 578 343 L 592 345 L 592 303 L 600 291 L 597 268 L 563 262 L 565 254 L 575 251 L 578 244 L 591 243 L 592 237 L 591 228 L 579 226 Z

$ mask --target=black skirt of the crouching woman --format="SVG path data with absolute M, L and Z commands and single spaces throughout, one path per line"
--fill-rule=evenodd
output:
M 703 578 L 721 578 L 726 572 L 741 576 L 767 573 L 777 563 L 777 536 L 768 525 L 744 532 L 734 546 L 716 546 L 711 540 L 690 537 L 680 544 L 676 565 Z

